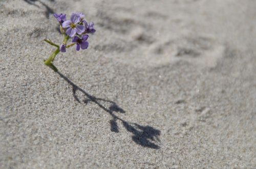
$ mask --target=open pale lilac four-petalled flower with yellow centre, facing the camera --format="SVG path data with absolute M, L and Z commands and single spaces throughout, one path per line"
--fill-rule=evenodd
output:
M 74 37 L 77 34 L 81 35 L 86 27 L 83 24 L 78 24 L 80 22 L 80 15 L 78 13 L 72 13 L 70 20 L 66 20 L 62 23 L 62 27 L 65 27 L 66 34 L 70 37 Z

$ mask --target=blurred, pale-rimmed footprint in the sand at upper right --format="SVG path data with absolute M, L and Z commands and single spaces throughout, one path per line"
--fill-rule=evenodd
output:
M 225 46 L 205 36 L 182 37 L 151 46 L 150 59 L 159 64 L 187 61 L 214 68 L 225 54 Z

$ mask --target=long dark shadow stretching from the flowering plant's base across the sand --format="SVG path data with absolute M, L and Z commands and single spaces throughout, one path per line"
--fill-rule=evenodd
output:
M 160 149 L 160 147 L 156 144 L 160 142 L 158 138 L 161 134 L 160 130 L 157 130 L 151 126 L 141 126 L 136 123 L 126 122 L 125 120 L 113 114 L 113 112 L 125 113 L 125 111 L 121 107 L 119 107 L 114 101 L 92 96 L 86 91 L 84 91 L 83 89 L 81 89 L 80 87 L 78 87 L 77 85 L 75 85 L 70 79 L 68 79 L 66 76 L 64 76 L 60 72 L 57 71 L 56 73 L 65 81 L 67 81 L 69 85 L 72 86 L 73 97 L 77 102 L 86 103 L 86 104 L 89 102 L 93 102 L 97 104 L 100 108 L 102 108 L 104 111 L 108 112 L 109 115 L 112 116 L 112 120 L 110 121 L 111 131 L 119 132 L 119 128 L 117 125 L 117 121 L 119 120 L 122 122 L 123 127 L 127 131 L 133 134 L 132 139 L 136 144 L 141 145 L 143 147 L 147 147 L 147 148 Z M 83 99 L 82 101 L 79 100 L 79 98 L 76 95 L 77 91 L 82 92 L 83 95 L 86 96 L 86 98 Z M 103 104 L 101 104 L 101 102 L 109 103 L 110 106 L 109 107 L 104 106 Z

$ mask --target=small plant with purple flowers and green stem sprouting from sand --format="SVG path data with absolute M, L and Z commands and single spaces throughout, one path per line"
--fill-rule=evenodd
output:
M 72 13 L 70 20 L 66 20 L 66 14 L 54 14 L 53 15 L 59 22 L 59 30 L 63 36 L 62 43 L 57 45 L 53 43 L 50 39 L 45 39 L 47 43 L 52 46 L 57 47 L 57 49 L 50 55 L 50 57 L 45 60 L 45 64 L 52 68 L 54 71 L 58 69 L 52 64 L 54 58 L 59 52 L 66 52 L 66 49 L 76 45 L 76 50 L 87 49 L 89 46 L 88 38 L 89 33 L 95 33 L 94 23 L 88 22 L 84 19 L 84 14 L 82 13 Z M 71 43 L 68 44 L 69 39 L 72 38 Z

